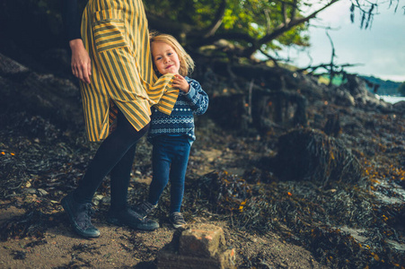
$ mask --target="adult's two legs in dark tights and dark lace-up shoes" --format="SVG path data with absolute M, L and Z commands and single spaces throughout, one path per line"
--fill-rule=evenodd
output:
M 108 220 L 111 223 L 128 225 L 134 229 L 154 230 L 159 228 L 157 222 L 142 219 L 126 206 L 129 173 L 134 160 L 136 142 L 147 132 L 149 125 L 136 132 L 136 129 L 120 112 L 118 120 L 117 129 L 101 143 L 84 178 L 79 182 L 79 186 L 61 201 L 73 228 L 85 238 L 100 236 L 100 231 L 92 225 L 90 218 L 92 215 L 91 202 L 92 196 L 100 186 L 102 179 L 111 169 L 114 169 L 112 173 L 114 203 L 118 203 L 117 206 L 122 205 L 123 208 L 122 210 L 110 211 Z M 121 197 L 117 200 L 119 195 Z

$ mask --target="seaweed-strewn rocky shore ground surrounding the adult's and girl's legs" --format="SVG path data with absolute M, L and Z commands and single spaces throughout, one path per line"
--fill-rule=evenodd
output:
M 59 202 L 83 176 L 97 143 L 84 141 L 80 122 L 48 113 L 55 111 L 48 96 L 19 101 L 15 93 L 38 87 L 50 95 L 62 85 L 59 91 L 67 92 L 72 106 L 80 100 L 66 89 L 75 87 L 23 68 L 11 73 L 0 68 L 0 74 L 6 97 L 0 103 L 0 266 L 154 268 L 174 232 L 166 216 L 168 192 L 153 216 L 160 229 L 128 230 L 105 220 L 106 178 L 93 200 L 101 238 L 75 236 Z M 353 91 L 320 89 L 316 96 L 302 90 L 307 127 L 230 130 L 209 113 L 198 117 L 183 203 L 186 220 L 222 227 L 227 245 L 236 250 L 237 268 L 404 268 L 403 108 Z M 36 110 L 33 100 L 49 106 Z M 335 127 L 326 127 L 333 122 Z M 143 139 L 132 204 L 145 198 L 150 152 Z

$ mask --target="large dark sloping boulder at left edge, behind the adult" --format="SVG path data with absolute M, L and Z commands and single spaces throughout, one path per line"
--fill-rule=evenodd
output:
M 0 120 L 26 112 L 51 120 L 60 127 L 84 126 L 78 86 L 54 74 L 40 74 L 0 54 Z

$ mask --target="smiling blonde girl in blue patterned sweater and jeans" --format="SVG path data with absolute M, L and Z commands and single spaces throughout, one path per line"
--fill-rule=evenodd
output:
M 189 150 L 196 140 L 194 115 L 207 111 L 208 96 L 200 84 L 187 74 L 194 69 L 194 62 L 180 43 L 171 35 L 151 33 L 151 51 L 154 71 L 158 76 L 175 74 L 172 86 L 180 90 L 172 114 L 167 115 L 152 108 L 148 141 L 153 144 L 153 179 L 147 201 L 136 206 L 136 213 L 146 217 L 157 206 L 164 187 L 171 181 L 171 205 L 169 220 L 174 228 L 186 224 L 180 206 L 184 193 L 184 181 Z M 162 106 L 159 104 L 157 106 Z

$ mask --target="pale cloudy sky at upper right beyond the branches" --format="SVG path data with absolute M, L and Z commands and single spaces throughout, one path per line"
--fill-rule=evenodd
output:
M 405 14 L 400 0 L 397 12 L 393 6 L 383 4 L 374 15 L 371 28 L 360 29 L 360 14 L 355 13 L 355 22 L 350 22 L 350 1 L 342 0 L 331 5 L 317 15 L 312 24 L 330 26 L 336 30 L 329 30 L 333 41 L 335 63 L 358 64 L 347 67 L 351 74 L 373 75 L 383 80 L 405 82 Z M 329 64 L 331 45 L 325 30 L 310 27 L 311 48 L 308 52 L 294 52 L 288 54 L 295 65 L 306 67 L 311 65 Z M 283 56 L 283 54 L 280 54 Z

